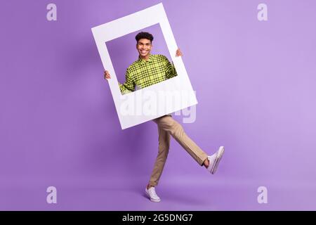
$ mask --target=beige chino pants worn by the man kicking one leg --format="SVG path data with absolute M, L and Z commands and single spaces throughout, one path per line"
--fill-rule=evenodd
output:
M 154 162 L 154 169 L 150 176 L 150 185 L 157 186 L 160 176 L 162 175 L 164 164 L 166 163 L 166 158 L 169 153 L 170 136 L 173 136 L 173 139 L 178 141 L 180 146 L 182 146 L 199 165 L 203 165 L 207 154 L 185 134 L 183 127 L 176 122 L 176 120 L 173 120 L 171 115 L 164 115 L 153 121 L 158 126 L 159 147 L 157 159 L 156 162 Z

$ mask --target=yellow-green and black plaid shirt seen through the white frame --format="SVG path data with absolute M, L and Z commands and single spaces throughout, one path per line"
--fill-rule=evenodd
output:
M 124 84 L 119 84 L 119 89 L 121 90 L 121 94 L 127 94 L 135 91 L 136 86 L 139 89 L 143 89 L 152 84 L 176 77 L 176 75 L 176 68 L 169 62 L 166 56 L 150 55 L 147 61 L 138 58 L 138 60 L 127 68 L 126 81 Z

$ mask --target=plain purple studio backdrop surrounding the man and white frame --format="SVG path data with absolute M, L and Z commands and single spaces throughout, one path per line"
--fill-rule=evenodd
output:
M 121 130 L 91 27 L 159 2 L 1 1 L 0 210 L 316 210 L 312 0 L 162 1 L 199 101 L 183 127 L 226 152 L 212 176 L 172 140 L 145 198 L 157 127 Z

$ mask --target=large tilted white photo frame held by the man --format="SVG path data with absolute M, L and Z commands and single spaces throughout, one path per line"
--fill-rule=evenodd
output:
M 171 60 L 178 75 L 164 82 L 122 95 L 110 54 L 107 51 L 106 42 L 136 32 L 137 30 L 144 30 L 146 27 L 158 23 L 162 29 Z M 173 32 L 162 3 L 145 8 L 131 15 L 126 15 L 109 23 L 98 25 L 91 28 L 91 30 L 103 67 L 111 75 L 108 83 L 121 129 L 133 127 L 197 104 L 197 98 L 192 89 L 183 60 L 181 57 L 175 56 L 178 46 L 173 37 Z

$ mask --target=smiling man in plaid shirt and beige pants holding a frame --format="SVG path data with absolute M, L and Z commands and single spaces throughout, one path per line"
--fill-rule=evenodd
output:
M 136 49 L 139 53 L 138 60 L 127 68 L 126 82 L 124 84 L 119 84 L 121 94 L 135 91 L 136 86 L 144 88 L 177 75 L 176 69 L 166 56 L 150 54 L 153 39 L 154 37 L 152 37 L 152 34 L 147 32 L 140 32 L 136 35 Z M 180 49 L 176 51 L 176 57 L 179 56 L 183 56 Z M 105 79 L 111 78 L 107 70 L 104 72 L 104 77 Z M 187 153 L 189 153 L 199 165 L 204 165 L 211 174 L 215 174 L 220 159 L 224 153 L 223 146 L 220 146 L 213 155 L 207 155 L 187 136 L 187 134 L 185 134 L 183 127 L 176 122 L 176 120 L 173 120 L 171 115 L 164 115 L 153 121 L 158 127 L 159 148 L 157 159 L 154 163 L 154 169 L 150 176 L 150 181 L 145 188 L 145 193 L 150 200 L 153 202 L 160 201 L 154 187 L 158 185 L 164 169 L 164 164 L 169 153 L 170 136 L 173 136 L 173 139 L 176 139 L 176 141 L 185 148 Z

